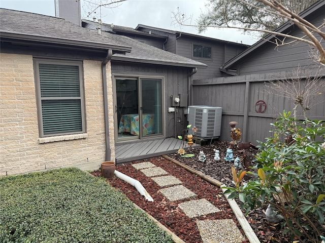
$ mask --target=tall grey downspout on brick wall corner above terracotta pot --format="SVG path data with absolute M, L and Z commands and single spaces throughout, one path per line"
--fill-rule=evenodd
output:
M 109 117 L 108 117 L 108 94 L 107 94 L 107 76 L 106 76 L 106 64 L 112 59 L 113 51 L 108 49 L 107 56 L 102 62 L 102 80 L 103 80 L 103 96 L 104 96 L 104 119 L 105 119 L 105 161 L 111 160 L 111 145 L 110 145 L 110 133 L 109 133 Z

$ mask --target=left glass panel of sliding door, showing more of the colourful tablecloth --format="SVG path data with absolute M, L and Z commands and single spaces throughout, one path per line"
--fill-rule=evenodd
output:
M 138 79 L 116 79 L 116 107 L 118 139 L 139 138 Z

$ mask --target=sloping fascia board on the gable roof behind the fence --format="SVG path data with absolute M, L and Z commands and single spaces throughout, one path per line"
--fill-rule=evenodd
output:
M 325 5 L 325 1 L 317 1 L 311 8 L 308 8 L 308 9 L 304 10 L 303 12 L 301 12 L 301 14 L 299 16 L 302 18 L 306 18 L 307 16 L 312 14 L 315 10 L 323 7 L 324 5 Z M 294 23 L 292 23 L 291 21 L 287 21 L 286 23 L 284 23 L 283 25 L 281 25 L 279 28 L 275 29 L 274 31 L 281 33 L 293 25 L 294 25 Z M 258 42 L 256 42 L 254 45 L 252 45 L 245 51 L 241 52 L 233 59 L 226 62 L 221 68 L 227 69 L 227 68 L 231 67 L 234 63 L 236 63 L 237 61 L 239 61 L 240 59 L 242 59 L 243 57 L 245 57 L 252 51 L 256 50 L 257 48 L 261 47 L 265 43 L 269 42 L 270 39 L 272 39 L 273 37 L 274 37 L 274 34 L 268 34 L 267 36 L 265 36 L 264 38 L 262 38 Z

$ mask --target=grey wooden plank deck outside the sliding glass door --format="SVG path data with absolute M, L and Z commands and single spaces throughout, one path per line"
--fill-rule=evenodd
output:
M 165 138 L 143 142 L 134 142 L 115 145 L 116 164 L 134 161 L 143 158 L 150 158 L 164 154 L 175 153 L 181 147 L 188 147 L 183 140 L 176 138 Z M 193 148 L 198 148 L 200 145 L 193 144 Z

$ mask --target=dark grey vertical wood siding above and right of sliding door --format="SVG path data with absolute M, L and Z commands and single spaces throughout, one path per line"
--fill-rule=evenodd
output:
M 122 62 L 112 61 L 112 74 L 123 75 L 153 75 L 164 77 L 164 113 L 165 113 L 165 128 L 166 137 L 176 137 L 181 135 L 186 128 L 187 120 L 184 116 L 184 108 L 177 108 L 176 113 L 169 113 L 168 107 L 171 107 L 171 96 L 178 94 L 187 94 L 188 74 L 191 68 L 181 67 L 163 67 L 149 64 L 127 64 Z M 180 119 L 180 122 L 176 122 Z

